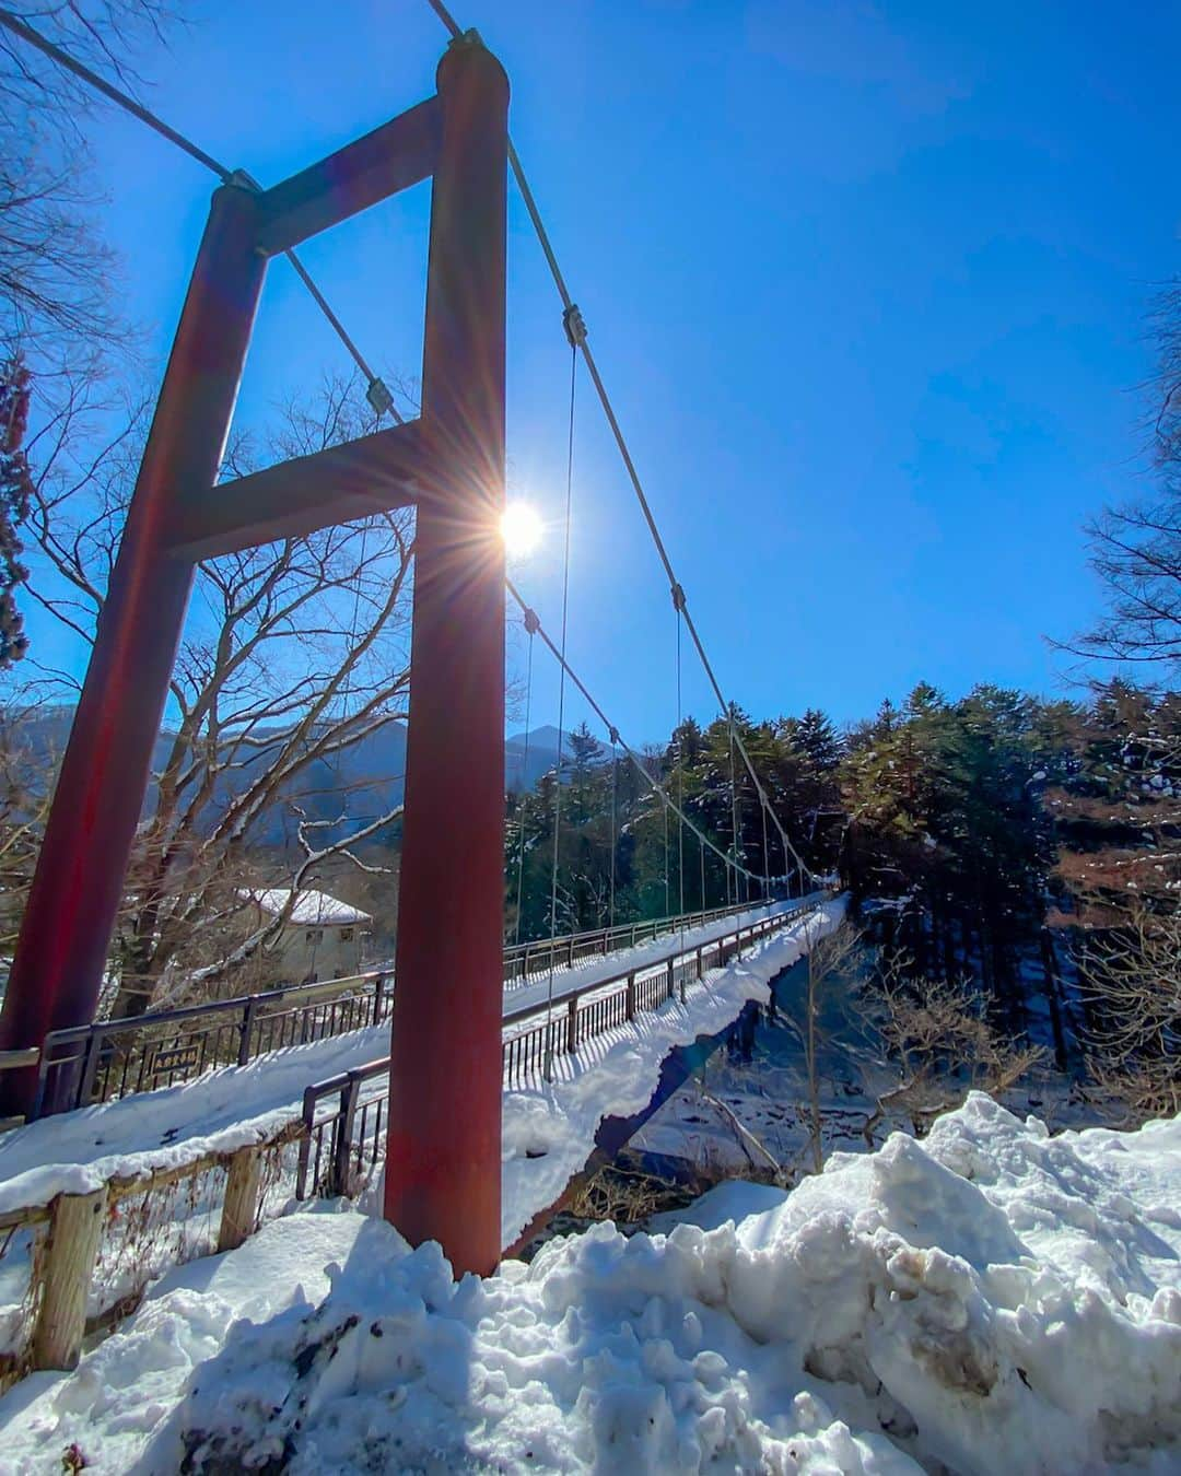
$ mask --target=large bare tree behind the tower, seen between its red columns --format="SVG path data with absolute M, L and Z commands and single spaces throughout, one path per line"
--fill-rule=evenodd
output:
M 145 415 L 131 406 L 97 444 L 77 434 L 86 415 L 83 388 L 38 432 L 30 527 L 46 565 L 34 598 L 89 642 Z M 314 397 L 286 404 L 272 434 L 239 437 L 226 471 L 320 450 L 371 422 L 356 381 L 326 379 Z M 400 806 L 354 818 L 340 766 L 406 714 L 412 554 L 412 515 L 396 511 L 199 565 L 128 871 L 112 1013 L 213 989 L 279 936 L 295 889 L 340 858 L 371 865 L 357 847 Z M 280 809 L 294 835 L 263 850 Z M 244 892 L 258 884 L 292 896 L 283 914 L 244 930 Z

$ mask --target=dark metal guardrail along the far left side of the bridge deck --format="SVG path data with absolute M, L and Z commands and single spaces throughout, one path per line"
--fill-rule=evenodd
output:
M 747 911 L 751 906 L 744 903 L 515 945 L 505 949 L 505 987 L 518 986 L 551 964 L 573 967 L 580 959 L 651 942 L 661 933 Z M 269 1051 L 379 1024 L 393 1007 L 391 980 L 390 968 L 376 968 L 348 979 L 53 1030 L 41 1049 L 31 1116 L 174 1086 L 217 1066 L 245 1066 Z

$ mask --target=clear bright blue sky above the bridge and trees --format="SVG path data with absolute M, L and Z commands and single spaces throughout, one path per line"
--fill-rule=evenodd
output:
M 1081 524 L 1144 484 L 1181 12 L 455 10 L 508 68 L 514 139 L 728 692 L 847 720 L 920 677 L 1060 691 L 1042 636 L 1097 608 Z M 272 183 L 427 96 L 444 40 L 425 0 L 205 0 L 145 62 L 148 100 Z M 127 308 L 162 359 L 210 179 L 114 112 L 93 137 Z M 366 356 L 406 373 L 427 189 L 304 252 Z M 568 348 L 515 199 L 509 258 L 509 490 L 557 524 Z M 241 413 L 325 368 L 342 351 L 276 263 Z M 586 379 L 579 397 L 570 652 L 644 741 L 676 716 L 673 614 Z M 557 630 L 557 527 L 515 576 Z M 555 700 L 540 676 L 534 723 Z M 712 713 L 688 658 L 684 704 Z

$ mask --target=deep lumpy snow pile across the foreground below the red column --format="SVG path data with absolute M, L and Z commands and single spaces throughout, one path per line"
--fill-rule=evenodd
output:
M 1050 1138 L 974 1095 L 486 1281 L 295 1215 L 0 1401 L 0 1469 L 1175 1472 L 1178 1204 L 1181 1117 Z

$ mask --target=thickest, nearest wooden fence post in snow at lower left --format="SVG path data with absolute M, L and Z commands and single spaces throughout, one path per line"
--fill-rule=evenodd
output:
M 77 1368 L 86 1297 L 106 1219 L 106 1187 L 59 1194 L 49 1222 L 41 1308 L 32 1334 L 34 1368 Z

